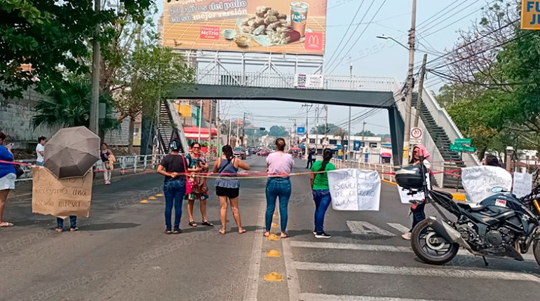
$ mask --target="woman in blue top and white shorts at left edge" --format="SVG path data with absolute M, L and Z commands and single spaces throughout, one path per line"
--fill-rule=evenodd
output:
M 13 162 L 13 153 L 11 153 L 10 146 L 6 148 L 4 142 L 6 141 L 6 134 L 0 132 L 0 160 Z M 0 228 L 13 227 L 12 223 L 3 221 L 4 207 L 6 206 L 6 200 L 8 199 L 9 190 L 15 189 L 15 166 L 10 163 L 0 163 Z

